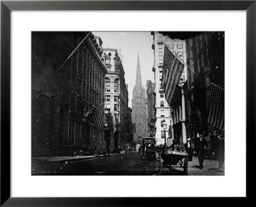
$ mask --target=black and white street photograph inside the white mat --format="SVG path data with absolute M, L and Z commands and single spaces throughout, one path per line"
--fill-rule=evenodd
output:
M 32 31 L 31 175 L 225 176 L 225 31 Z

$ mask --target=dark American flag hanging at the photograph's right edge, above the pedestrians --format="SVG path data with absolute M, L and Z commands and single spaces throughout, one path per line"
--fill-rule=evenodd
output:
M 216 128 L 224 128 L 224 89 L 211 84 L 207 123 Z

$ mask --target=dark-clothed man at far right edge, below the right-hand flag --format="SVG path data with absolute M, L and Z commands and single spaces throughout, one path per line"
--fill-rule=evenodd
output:
M 223 162 L 225 160 L 225 142 L 224 133 L 222 130 L 218 131 L 216 136 L 214 136 L 213 150 L 212 154 L 216 154 L 216 158 L 219 162 L 219 169 L 223 169 Z

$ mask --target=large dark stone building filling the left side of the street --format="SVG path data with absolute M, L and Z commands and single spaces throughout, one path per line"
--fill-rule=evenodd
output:
M 84 117 L 104 101 L 107 73 L 100 59 L 100 45 L 92 33 L 84 40 L 87 34 L 32 33 L 33 157 L 44 156 L 48 149 L 52 156 L 63 155 L 65 145 L 75 149 L 104 140 L 104 134 L 97 132 L 91 117 Z

